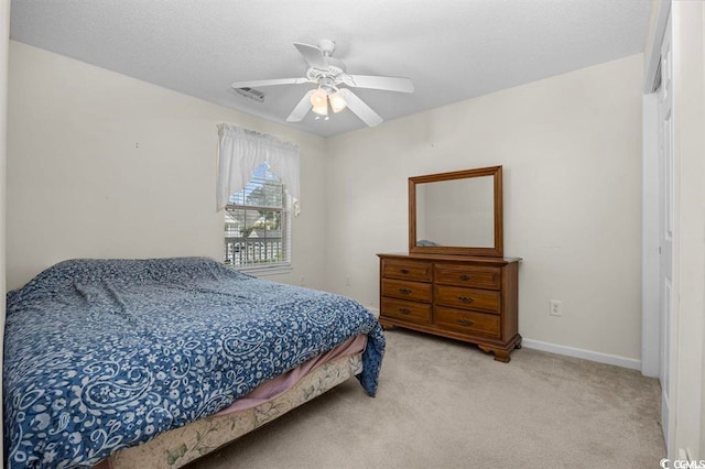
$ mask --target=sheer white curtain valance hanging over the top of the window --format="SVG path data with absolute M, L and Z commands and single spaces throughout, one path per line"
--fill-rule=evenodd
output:
M 227 123 L 218 124 L 218 210 L 245 188 L 257 166 L 267 162 L 284 184 L 294 215 L 299 215 L 299 145 Z

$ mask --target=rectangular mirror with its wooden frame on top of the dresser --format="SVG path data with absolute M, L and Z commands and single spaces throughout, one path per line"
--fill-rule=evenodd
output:
M 409 178 L 409 252 L 502 257 L 502 167 Z

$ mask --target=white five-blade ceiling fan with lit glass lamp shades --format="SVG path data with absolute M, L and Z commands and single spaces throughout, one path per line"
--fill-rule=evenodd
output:
M 299 101 L 292 113 L 286 118 L 289 122 L 301 121 L 308 111 L 315 112 L 317 114 L 316 119 L 328 120 L 328 110 L 340 112 L 343 109 L 348 108 L 369 127 L 379 124 L 382 122 L 382 118 L 352 92 L 350 88 L 381 89 L 398 92 L 414 91 L 414 85 L 409 78 L 350 75 L 346 73 L 345 64 L 333 57 L 335 42 L 330 40 L 321 41 L 318 46 L 302 43 L 294 43 L 294 46 L 308 64 L 304 77 L 236 81 L 232 84 L 232 88 L 313 83 L 317 85 L 316 88 L 308 90 Z M 341 85 L 345 85 L 345 87 Z

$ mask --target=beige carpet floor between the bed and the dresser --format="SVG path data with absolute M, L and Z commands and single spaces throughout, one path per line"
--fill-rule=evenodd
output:
M 387 331 L 377 397 L 357 380 L 189 468 L 655 468 L 660 389 L 622 368 Z

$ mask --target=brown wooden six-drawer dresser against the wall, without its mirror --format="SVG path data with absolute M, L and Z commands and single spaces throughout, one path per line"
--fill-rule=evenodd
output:
M 508 362 L 521 348 L 517 258 L 377 254 L 380 323 L 477 343 Z

